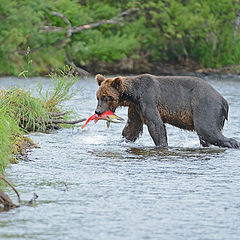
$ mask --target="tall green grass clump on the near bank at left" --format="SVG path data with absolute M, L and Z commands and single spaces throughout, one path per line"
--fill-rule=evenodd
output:
M 61 103 L 75 93 L 72 87 L 77 80 L 70 72 L 66 67 L 52 75 L 53 91 L 43 92 L 39 87 L 39 98 L 18 87 L 0 90 L 0 174 L 10 161 L 16 162 L 13 155 L 25 154 L 26 148 L 34 146 L 24 133 L 45 132 L 65 123 L 68 112 L 60 111 Z

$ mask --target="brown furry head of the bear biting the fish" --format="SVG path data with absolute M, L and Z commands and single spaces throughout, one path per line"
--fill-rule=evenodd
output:
M 120 97 L 125 91 L 124 79 L 122 77 L 105 78 L 98 74 L 96 80 L 99 88 L 96 93 L 98 104 L 95 113 L 100 115 L 107 110 L 115 112 L 119 106 Z

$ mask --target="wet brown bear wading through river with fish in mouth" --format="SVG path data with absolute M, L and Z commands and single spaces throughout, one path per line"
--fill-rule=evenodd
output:
M 222 134 L 228 119 L 227 101 L 203 79 L 150 74 L 105 78 L 98 74 L 96 80 L 95 113 L 127 106 L 128 120 L 122 135 L 129 141 L 135 141 L 146 124 L 155 145 L 166 147 L 168 123 L 196 131 L 204 147 L 240 148 L 238 141 Z

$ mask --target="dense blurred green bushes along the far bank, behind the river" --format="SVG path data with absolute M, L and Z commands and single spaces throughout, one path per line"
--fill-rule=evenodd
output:
M 0 74 L 141 58 L 240 64 L 238 15 L 238 0 L 1 0 Z

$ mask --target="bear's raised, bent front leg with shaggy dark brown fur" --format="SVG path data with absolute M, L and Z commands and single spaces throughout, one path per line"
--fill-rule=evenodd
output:
M 122 131 L 123 137 L 131 142 L 136 141 L 143 131 L 143 122 L 137 109 L 134 104 L 128 107 L 128 120 Z

